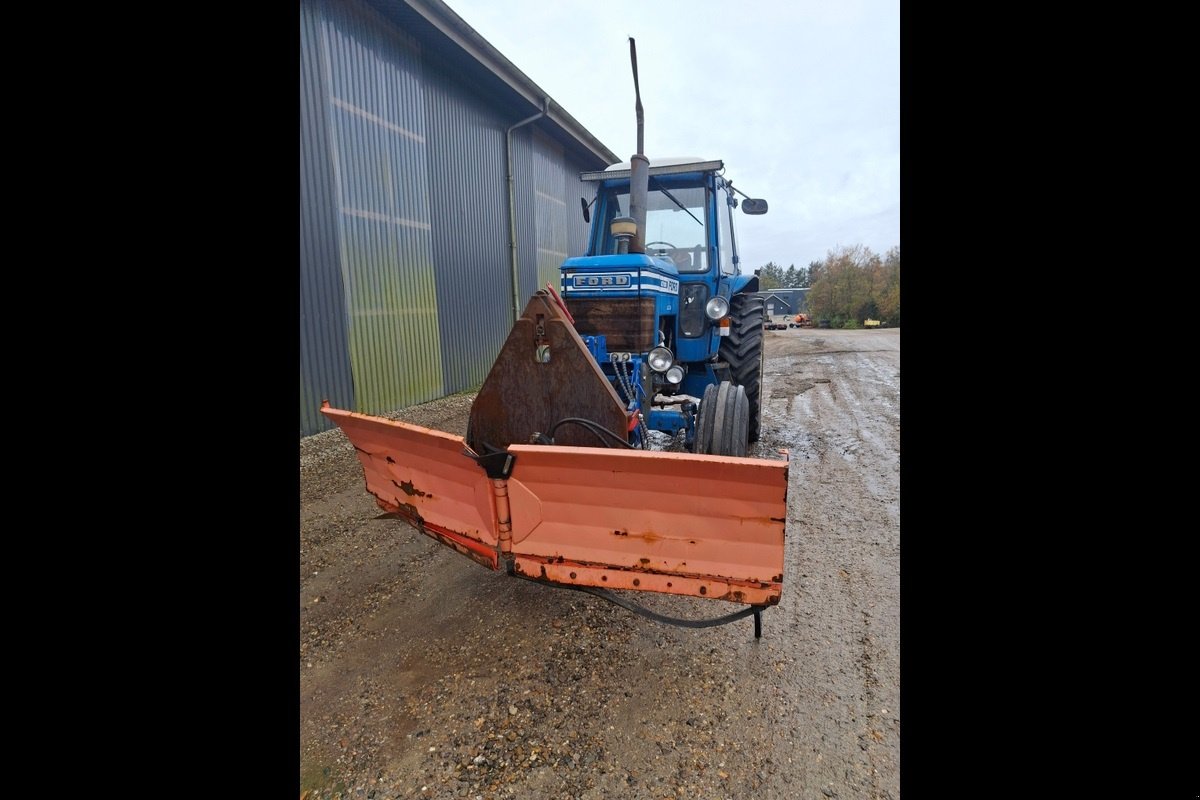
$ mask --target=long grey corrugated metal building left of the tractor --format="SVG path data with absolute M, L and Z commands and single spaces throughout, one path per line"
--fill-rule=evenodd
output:
M 443 2 L 300 0 L 300 435 L 480 384 L 617 161 Z

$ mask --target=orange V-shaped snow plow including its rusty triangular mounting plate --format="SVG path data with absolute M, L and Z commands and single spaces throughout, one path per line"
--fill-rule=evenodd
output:
M 697 443 L 720 443 L 718 433 L 738 419 L 736 407 L 726 408 L 727 396 L 730 389 L 706 392 L 716 410 L 696 414 L 709 428 L 707 437 L 696 434 Z M 786 451 L 766 459 L 581 446 L 605 444 L 587 435 L 596 431 L 635 435 L 638 415 L 622 407 L 553 293 L 536 293 L 514 325 L 472 403 L 469 440 L 328 402 L 322 413 L 354 445 L 382 516 L 403 519 L 491 570 L 596 594 L 688 627 L 752 613 L 756 636 L 762 609 L 779 602 Z M 565 428 L 556 444 L 520 444 L 547 440 L 541 432 L 554 431 L 554 420 L 587 425 Z M 679 620 L 623 601 L 613 589 L 749 608 Z

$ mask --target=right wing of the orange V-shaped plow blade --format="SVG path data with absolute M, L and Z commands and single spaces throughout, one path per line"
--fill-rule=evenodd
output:
M 509 452 L 518 575 L 779 602 L 786 461 L 533 445 Z

